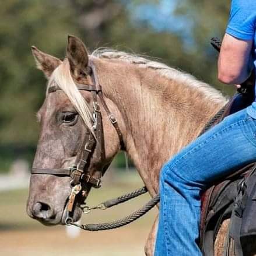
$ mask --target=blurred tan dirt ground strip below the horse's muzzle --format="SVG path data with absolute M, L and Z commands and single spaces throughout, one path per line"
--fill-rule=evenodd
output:
M 75 239 L 65 229 L 18 230 L 0 233 L 1 255 L 143 255 L 148 229 L 123 228 L 108 232 L 83 233 Z

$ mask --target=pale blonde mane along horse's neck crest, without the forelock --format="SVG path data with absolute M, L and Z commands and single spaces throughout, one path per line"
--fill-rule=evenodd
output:
M 201 82 L 196 79 L 194 76 L 180 71 L 175 68 L 170 68 L 163 63 L 146 59 L 143 56 L 128 54 L 127 52 L 114 51 L 110 49 L 98 49 L 95 50 L 92 55 L 98 58 L 105 59 L 120 59 L 121 61 L 128 62 L 129 64 L 139 65 L 141 68 L 154 69 L 161 76 L 166 77 L 167 79 L 175 80 L 181 83 L 184 86 L 191 86 L 205 94 L 205 96 L 214 101 L 215 103 L 222 103 L 225 97 L 216 90 L 214 87 L 208 85 L 207 83 Z

